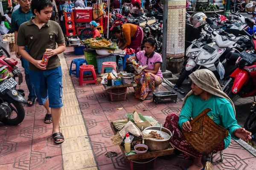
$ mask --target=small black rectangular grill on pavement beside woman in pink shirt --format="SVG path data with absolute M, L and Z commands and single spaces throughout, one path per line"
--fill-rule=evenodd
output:
M 178 95 L 174 91 L 157 92 L 153 93 L 153 102 L 155 101 L 156 104 L 163 101 L 177 102 L 177 97 Z

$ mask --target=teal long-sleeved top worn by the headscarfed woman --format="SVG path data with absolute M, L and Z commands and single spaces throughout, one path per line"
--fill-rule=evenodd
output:
M 209 111 L 207 115 L 218 125 L 224 127 L 228 130 L 229 134 L 224 139 L 225 149 L 230 144 L 231 136 L 238 140 L 236 136 L 233 135 L 234 130 L 240 128 L 237 124 L 235 114 L 230 104 L 230 101 L 221 98 L 218 96 L 212 95 L 210 99 L 203 100 L 201 96 L 198 95 L 191 95 L 186 99 L 186 103 L 181 110 L 180 118 L 179 118 L 179 125 L 182 128 L 182 124 L 186 121 L 190 121 L 191 118 L 195 118 L 200 114 L 204 109 L 211 108 L 212 111 Z

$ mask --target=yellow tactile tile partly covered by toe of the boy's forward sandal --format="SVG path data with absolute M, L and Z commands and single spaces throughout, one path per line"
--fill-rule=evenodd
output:
M 65 140 L 65 145 L 61 147 L 62 154 L 92 150 L 88 136 L 80 136 Z

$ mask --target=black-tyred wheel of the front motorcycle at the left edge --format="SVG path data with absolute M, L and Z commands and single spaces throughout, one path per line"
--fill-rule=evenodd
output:
M 3 122 L 5 125 L 18 125 L 20 124 L 24 117 L 25 111 L 23 105 L 20 102 L 15 101 L 9 97 L 2 97 L 4 102 L 8 102 L 9 107 L 12 109 L 10 118 L 3 118 L 0 122 Z

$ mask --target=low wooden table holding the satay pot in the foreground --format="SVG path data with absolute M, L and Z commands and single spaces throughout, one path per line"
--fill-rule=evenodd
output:
M 113 124 L 111 123 L 111 129 L 113 130 L 113 133 L 116 135 L 116 130 L 114 129 L 113 127 Z M 121 151 L 122 151 L 122 154 L 125 158 L 126 161 L 129 162 L 130 164 L 130 168 L 131 170 L 133 170 L 133 163 L 134 161 L 136 160 L 140 160 L 140 159 L 148 159 L 148 158 L 155 158 L 154 159 L 154 167 L 156 166 L 156 162 L 157 162 L 157 157 L 158 156 L 166 156 L 166 155 L 171 155 L 171 154 L 174 154 L 174 148 L 170 147 L 166 150 L 158 150 L 158 151 L 148 151 L 147 153 L 140 153 L 140 154 L 127 154 L 125 152 L 125 149 L 123 146 L 119 145 Z M 132 152 L 132 149 L 131 149 L 131 152 Z M 153 159 L 152 159 L 153 160 Z M 140 162 L 140 163 L 143 163 L 143 162 Z

